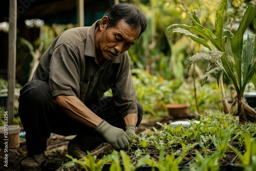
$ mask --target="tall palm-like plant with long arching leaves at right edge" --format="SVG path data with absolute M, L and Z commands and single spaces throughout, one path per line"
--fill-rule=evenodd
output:
M 205 46 L 210 51 L 206 53 L 197 53 L 191 56 L 187 62 L 187 69 L 199 58 L 209 60 L 209 66 L 206 69 L 202 86 L 207 76 L 212 72 L 211 67 L 217 65 L 214 70 L 223 71 L 227 79 L 233 84 L 237 92 L 236 101 L 238 103 L 238 114 L 240 123 L 247 121 L 246 114 L 256 120 L 256 112 L 244 100 L 243 94 L 246 85 L 255 74 L 256 56 L 255 56 L 255 34 L 248 34 L 244 40 L 245 30 L 256 16 L 256 8 L 248 6 L 238 30 L 233 34 L 231 31 L 224 29 L 224 11 L 227 7 L 227 0 L 223 0 L 216 13 L 215 34 L 200 24 L 200 20 L 195 15 L 189 15 L 193 26 L 173 24 L 167 27 L 171 36 L 175 33 L 183 33 Z M 196 36 L 195 34 L 199 36 Z M 211 42 L 214 48 L 211 48 L 206 42 Z

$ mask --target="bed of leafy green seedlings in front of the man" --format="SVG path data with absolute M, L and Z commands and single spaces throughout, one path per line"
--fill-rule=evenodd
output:
M 76 170 L 77 165 L 91 170 L 241 170 L 237 164 L 254 170 L 248 159 L 256 155 L 255 124 L 242 125 L 218 111 L 189 122 L 188 127 L 158 122 L 161 129 L 152 127 L 147 137 L 140 134 L 128 151 L 109 151 L 97 158 L 89 153 L 80 160 L 70 157 L 62 170 Z

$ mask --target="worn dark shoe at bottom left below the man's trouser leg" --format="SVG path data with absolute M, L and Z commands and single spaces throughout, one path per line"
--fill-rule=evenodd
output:
M 44 167 L 48 164 L 48 158 L 44 153 L 26 156 L 20 160 L 19 168 L 20 170 L 41 170 L 41 167 Z

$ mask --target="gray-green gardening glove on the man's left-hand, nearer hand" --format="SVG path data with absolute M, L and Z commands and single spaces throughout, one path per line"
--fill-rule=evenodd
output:
M 128 137 L 122 129 L 112 126 L 105 120 L 102 120 L 95 130 L 99 132 L 117 151 L 129 148 L 131 138 Z

